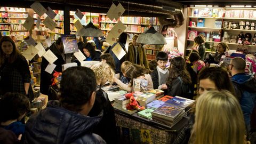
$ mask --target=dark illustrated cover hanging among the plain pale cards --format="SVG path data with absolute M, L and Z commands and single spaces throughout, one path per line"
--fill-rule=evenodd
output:
M 61 35 L 61 41 L 63 43 L 63 51 L 65 54 L 78 52 L 76 35 Z

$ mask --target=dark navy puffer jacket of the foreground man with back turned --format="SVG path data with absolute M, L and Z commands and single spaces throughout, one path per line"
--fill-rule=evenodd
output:
M 49 101 L 45 109 L 28 119 L 25 143 L 106 143 L 92 133 L 101 116 L 77 114 L 61 107 L 59 101 Z

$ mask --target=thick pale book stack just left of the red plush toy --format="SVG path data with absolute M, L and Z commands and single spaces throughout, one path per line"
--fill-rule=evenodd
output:
M 134 99 L 136 99 L 136 98 L 137 97 L 135 97 L 135 95 L 134 95 Z M 125 95 L 121 95 L 121 96 L 115 98 L 113 107 L 118 110 L 123 111 L 124 113 L 132 115 L 132 114 L 136 113 L 137 110 L 136 109 L 135 110 L 126 109 L 126 106 L 128 105 L 129 102 L 130 102 L 130 99 L 126 99 Z

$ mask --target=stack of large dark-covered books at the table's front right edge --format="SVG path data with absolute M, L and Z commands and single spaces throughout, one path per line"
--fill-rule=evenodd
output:
M 151 113 L 154 121 L 169 126 L 178 123 L 184 114 L 185 111 L 183 109 L 170 105 L 169 103 L 164 103 L 164 105 Z

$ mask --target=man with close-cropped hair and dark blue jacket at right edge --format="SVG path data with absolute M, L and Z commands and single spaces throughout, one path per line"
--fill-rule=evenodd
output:
M 245 60 L 236 57 L 230 61 L 228 66 L 231 73 L 231 81 L 234 84 L 239 103 L 241 105 L 247 130 L 251 129 L 251 114 L 255 107 L 256 81 L 250 75 L 244 73 L 246 67 Z

